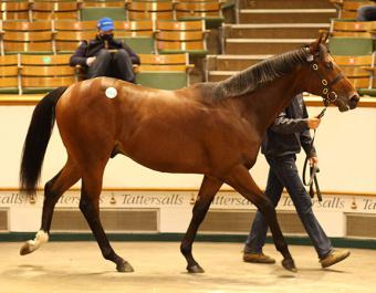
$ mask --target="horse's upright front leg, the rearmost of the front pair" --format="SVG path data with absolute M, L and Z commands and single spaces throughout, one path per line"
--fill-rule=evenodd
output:
M 192 219 L 190 220 L 188 230 L 181 241 L 180 251 L 187 260 L 187 270 L 189 273 L 203 273 L 203 269 L 197 263 L 192 257 L 192 243 L 197 234 L 197 230 L 202 222 L 207 211 L 210 207 L 212 199 L 222 186 L 222 181 L 216 178 L 205 176 L 197 200 L 194 207 Z

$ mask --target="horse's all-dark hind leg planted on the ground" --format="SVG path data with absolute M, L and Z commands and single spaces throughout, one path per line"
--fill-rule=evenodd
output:
M 94 233 L 103 257 L 106 260 L 113 261 L 116 264 L 116 270 L 118 272 L 133 272 L 132 265 L 118 257 L 111 247 L 101 223 L 100 196 L 102 190 L 103 170 L 104 166 L 101 168 L 91 168 L 91 171 L 83 175 L 80 209 Z

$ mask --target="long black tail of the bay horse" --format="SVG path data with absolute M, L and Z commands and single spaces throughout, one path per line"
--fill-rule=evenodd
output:
M 35 195 L 45 149 L 55 123 L 55 106 L 65 90 L 66 87 L 53 90 L 34 108 L 23 144 L 20 169 L 20 190 L 29 196 Z

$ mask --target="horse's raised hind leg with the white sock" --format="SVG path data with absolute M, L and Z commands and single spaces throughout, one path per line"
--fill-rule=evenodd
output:
M 63 169 L 45 184 L 41 229 L 36 232 L 34 240 L 29 240 L 21 247 L 21 255 L 35 251 L 49 241 L 53 209 L 59 198 L 80 178 L 76 164 L 69 157 Z

